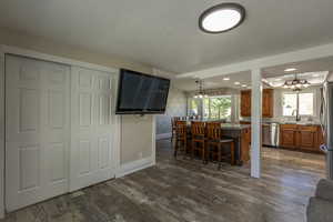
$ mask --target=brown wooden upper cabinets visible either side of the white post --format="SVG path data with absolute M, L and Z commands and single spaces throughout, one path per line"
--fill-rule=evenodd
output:
M 264 89 L 262 93 L 262 117 L 273 118 L 273 89 Z M 241 91 L 241 115 L 251 117 L 251 90 Z

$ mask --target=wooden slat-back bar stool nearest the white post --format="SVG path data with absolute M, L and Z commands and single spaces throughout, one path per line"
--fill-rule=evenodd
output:
M 223 157 L 223 144 L 230 144 L 230 154 Z M 218 157 L 219 167 L 221 169 L 222 159 L 230 159 L 231 164 L 234 164 L 234 141 L 233 139 L 222 138 L 222 130 L 220 122 L 206 123 L 206 145 L 209 154 Z

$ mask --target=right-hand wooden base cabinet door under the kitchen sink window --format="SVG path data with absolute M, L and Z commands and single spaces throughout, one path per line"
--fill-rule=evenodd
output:
M 297 148 L 316 151 L 316 127 L 299 127 Z

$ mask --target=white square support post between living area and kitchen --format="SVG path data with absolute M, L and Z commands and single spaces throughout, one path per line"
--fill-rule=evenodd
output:
M 262 121 L 262 78 L 260 69 L 251 70 L 251 176 L 261 174 L 261 121 Z

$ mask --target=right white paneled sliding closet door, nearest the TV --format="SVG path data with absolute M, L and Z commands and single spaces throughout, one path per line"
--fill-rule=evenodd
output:
M 112 74 L 72 67 L 70 191 L 114 178 Z

